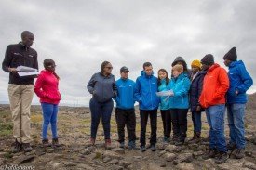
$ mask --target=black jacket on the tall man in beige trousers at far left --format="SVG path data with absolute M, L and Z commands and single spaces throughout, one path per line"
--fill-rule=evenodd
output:
M 8 72 L 8 68 L 17 68 L 18 66 L 32 67 L 38 70 L 37 52 L 21 43 L 7 46 L 6 56 L 2 63 L 2 69 Z M 20 77 L 17 73 L 9 72 L 9 84 L 15 85 L 33 85 L 34 76 Z

